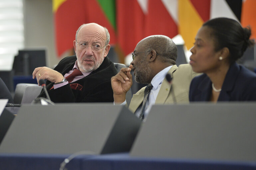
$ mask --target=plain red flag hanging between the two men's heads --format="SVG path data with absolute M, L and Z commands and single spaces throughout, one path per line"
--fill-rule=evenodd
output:
M 124 57 L 131 53 L 136 44 L 145 37 L 144 19 L 145 15 L 137 0 L 117 0 L 117 42 Z M 145 5 L 145 4 L 142 4 Z

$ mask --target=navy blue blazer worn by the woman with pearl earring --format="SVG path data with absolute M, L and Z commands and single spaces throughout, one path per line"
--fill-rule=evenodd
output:
M 195 77 L 190 84 L 189 101 L 209 101 L 211 84 L 206 74 Z M 218 101 L 256 101 L 256 74 L 237 63 L 230 65 Z

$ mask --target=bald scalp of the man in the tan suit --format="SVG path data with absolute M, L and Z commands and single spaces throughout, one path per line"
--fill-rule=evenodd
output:
M 175 64 L 178 50 L 175 43 L 169 37 L 163 35 L 153 35 L 144 38 L 139 43 L 141 43 L 145 51 L 152 49 L 155 50 L 159 54 L 159 58 L 162 60 L 162 62 Z

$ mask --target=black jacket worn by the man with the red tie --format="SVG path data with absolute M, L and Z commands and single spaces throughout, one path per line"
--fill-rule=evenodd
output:
M 62 59 L 54 70 L 63 76 L 72 70 L 77 60 L 76 55 Z M 52 89 L 54 83 L 47 81 L 46 89 L 51 100 L 55 103 L 65 102 L 114 102 L 111 77 L 116 75 L 117 69 L 108 57 L 105 57 L 100 67 L 88 76 L 69 83 L 57 89 Z M 83 86 L 82 90 L 74 90 L 70 84 L 78 83 Z M 42 90 L 39 97 L 46 97 Z

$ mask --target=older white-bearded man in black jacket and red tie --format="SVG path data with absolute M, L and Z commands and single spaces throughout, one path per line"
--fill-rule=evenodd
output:
M 33 78 L 47 79 L 46 88 L 53 102 L 113 102 L 111 77 L 117 69 L 107 57 L 110 35 L 106 28 L 83 24 L 73 42 L 76 55 L 62 59 L 53 69 L 38 67 Z M 39 97 L 46 97 L 44 91 Z

